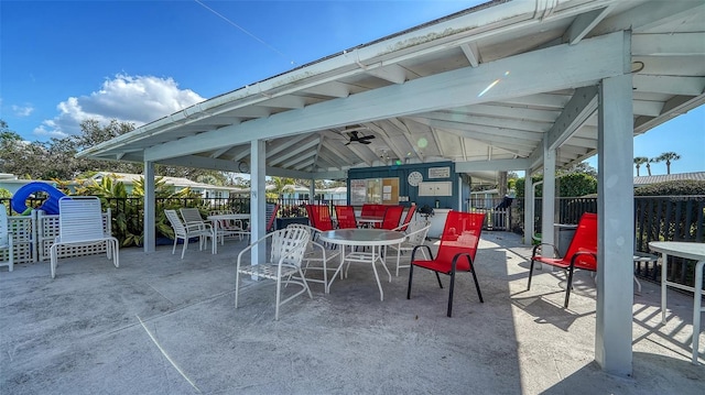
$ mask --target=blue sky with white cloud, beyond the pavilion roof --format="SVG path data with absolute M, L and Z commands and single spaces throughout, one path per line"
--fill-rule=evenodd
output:
M 29 141 L 140 125 L 481 2 L 2 0 L 0 119 Z M 663 152 L 672 173 L 705 171 L 705 108 L 634 139 L 634 156 Z

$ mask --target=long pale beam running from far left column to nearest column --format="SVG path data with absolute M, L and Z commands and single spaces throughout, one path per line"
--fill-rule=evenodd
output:
M 252 136 L 279 138 L 350 123 L 594 85 L 600 78 L 623 73 L 621 65 L 612 61 L 623 52 L 623 35 L 622 32 L 612 33 L 583 40 L 579 45 L 554 46 L 485 63 L 477 68 L 456 69 L 352 95 L 345 99 L 311 105 L 300 110 L 290 110 L 265 119 L 167 142 L 147 149 L 144 156 L 149 161 L 159 161 L 196 151 L 215 150 L 224 144 L 237 145 L 250 141 Z M 551 62 L 556 69 L 571 73 L 545 73 L 546 62 Z M 511 74 L 498 74 L 498 70 L 511 70 Z M 488 80 L 497 78 L 501 79 L 500 83 L 487 89 Z M 480 95 L 481 92 L 484 94 Z

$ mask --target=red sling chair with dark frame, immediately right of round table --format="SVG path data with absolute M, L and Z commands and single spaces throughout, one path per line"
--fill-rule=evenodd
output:
M 473 274 L 477 295 L 480 298 L 480 303 L 485 303 L 485 300 L 482 300 L 482 294 L 480 293 L 480 285 L 477 282 L 477 275 L 475 273 L 475 253 L 477 252 L 477 244 L 480 240 L 482 223 L 485 223 L 485 213 L 449 211 L 448 217 L 445 220 L 445 227 L 443 229 L 443 234 L 441 235 L 441 244 L 438 245 L 438 252 L 436 253 L 435 259 L 431 253 L 431 248 L 425 244 L 415 246 L 411 253 L 406 299 L 411 299 L 411 283 L 413 279 L 414 266 L 419 266 L 435 272 L 441 288 L 443 288 L 443 284 L 441 283 L 441 276 L 438 273 L 451 276 L 447 311 L 448 317 L 451 317 L 453 312 L 453 290 L 455 287 L 456 272 L 470 272 Z M 420 250 L 421 252 L 427 252 L 427 256 L 431 256 L 431 260 L 416 260 L 415 255 Z

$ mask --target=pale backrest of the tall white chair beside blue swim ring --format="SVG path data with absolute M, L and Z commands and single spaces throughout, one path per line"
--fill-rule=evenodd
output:
M 100 199 L 96 196 L 59 198 L 58 234 L 62 243 L 105 239 Z

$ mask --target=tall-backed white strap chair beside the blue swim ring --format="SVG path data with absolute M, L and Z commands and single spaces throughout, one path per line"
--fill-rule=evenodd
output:
M 100 199 L 96 196 L 64 196 L 58 199 L 58 237 L 51 248 L 52 278 L 56 276 L 58 248 L 106 243 L 106 254 L 120 267 L 118 239 L 104 231 Z

